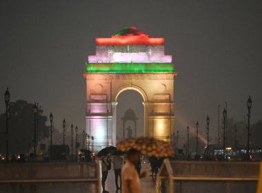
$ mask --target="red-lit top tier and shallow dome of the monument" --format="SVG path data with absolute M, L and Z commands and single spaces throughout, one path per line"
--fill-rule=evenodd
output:
M 96 38 L 97 45 L 164 45 L 165 38 L 149 38 L 136 27 L 125 27 L 111 38 Z

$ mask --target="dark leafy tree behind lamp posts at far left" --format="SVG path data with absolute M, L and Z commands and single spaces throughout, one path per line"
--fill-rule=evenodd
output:
M 37 112 L 37 141 L 49 137 L 48 118 Z M 0 115 L 0 152 L 6 152 L 6 113 Z M 9 152 L 28 152 L 34 146 L 34 104 L 10 102 L 8 115 Z

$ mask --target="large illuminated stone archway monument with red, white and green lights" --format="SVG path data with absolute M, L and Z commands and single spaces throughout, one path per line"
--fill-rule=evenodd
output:
M 111 38 L 96 38 L 96 53 L 85 63 L 86 132 L 95 150 L 115 146 L 118 95 L 133 89 L 143 97 L 144 135 L 166 139 L 174 133 L 174 64 L 164 38 L 125 27 Z M 132 99 L 130 99 L 132 100 Z

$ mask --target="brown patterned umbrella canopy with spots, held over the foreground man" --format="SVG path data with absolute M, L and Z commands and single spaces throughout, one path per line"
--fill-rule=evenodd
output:
M 141 154 L 149 157 L 170 157 L 174 155 L 174 150 L 168 142 L 153 137 L 130 137 L 117 144 L 117 149 L 123 152 L 127 152 L 131 148 L 139 150 Z

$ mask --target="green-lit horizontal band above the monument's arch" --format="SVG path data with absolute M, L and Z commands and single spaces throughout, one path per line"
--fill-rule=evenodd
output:
M 172 63 L 85 63 L 92 73 L 157 73 L 174 72 Z

